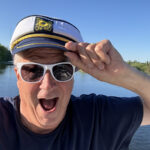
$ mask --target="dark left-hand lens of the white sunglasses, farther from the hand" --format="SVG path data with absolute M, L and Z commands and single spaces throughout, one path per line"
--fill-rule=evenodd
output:
M 26 64 L 21 68 L 21 75 L 25 81 L 36 82 L 41 79 L 44 68 L 36 64 Z

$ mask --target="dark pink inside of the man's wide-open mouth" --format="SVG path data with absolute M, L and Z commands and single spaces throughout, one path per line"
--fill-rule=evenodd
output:
M 51 99 L 51 100 L 40 99 L 40 102 L 43 109 L 48 111 L 54 108 L 56 104 L 56 99 Z

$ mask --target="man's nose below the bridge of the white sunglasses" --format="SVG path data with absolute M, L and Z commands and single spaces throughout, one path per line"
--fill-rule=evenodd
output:
M 57 84 L 56 82 L 57 81 L 55 81 L 55 79 L 52 77 L 50 71 L 47 70 L 41 81 L 40 88 L 42 88 L 42 89 L 54 88 Z

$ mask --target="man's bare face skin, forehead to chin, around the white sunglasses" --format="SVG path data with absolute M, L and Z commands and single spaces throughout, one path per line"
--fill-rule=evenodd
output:
M 65 59 L 62 51 L 36 48 L 26 51 L 19 62 L 54 64 L 65 61 Z M 40 82 L 28 83 L 21 79 L 16 68 L 15 72 L 21 99 L 20 113 L 23 124 L 30 130 L 41 134 L 54 130 L 65 116 L 73 88 L 73 80 L 55 81 L 47 71 Z M 46 106 L 51 106 L 51 109 L 44 109 Z

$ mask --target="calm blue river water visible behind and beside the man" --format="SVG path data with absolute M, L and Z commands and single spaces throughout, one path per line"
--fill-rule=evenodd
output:
M 136 94 L 118 86 L 100 82 L 90 75 L 77 72 L 75 74 L 73 94 L 104 94 L 108 96 L 131 97 Z M 16 77 L 13 66 L 0 65 L 0 97 L 14 97 L 18 94 Z M 140 127 L 135 133 L 130 144 L 130 150 L 150 150 L 150 126 Z

